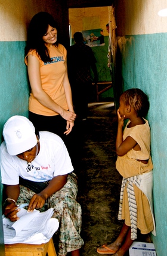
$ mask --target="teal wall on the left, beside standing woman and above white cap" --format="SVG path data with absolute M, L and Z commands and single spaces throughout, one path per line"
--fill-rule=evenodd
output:
M 27 116 L 28 113 L 29 86 L 24 47 L 24 41 L 0 42 L 1 135 L 8 118 L 14 115 Z

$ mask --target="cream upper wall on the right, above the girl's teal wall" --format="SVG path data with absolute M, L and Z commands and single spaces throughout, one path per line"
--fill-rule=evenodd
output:
M 118 35 L 167 32 L 167 17 L 160 17 L 157 14 L 159 10 L 167 8 L 166 0 L 121 0 L 117 5 L 121 5 L 119 17 L 122 17 L 117 20 Z

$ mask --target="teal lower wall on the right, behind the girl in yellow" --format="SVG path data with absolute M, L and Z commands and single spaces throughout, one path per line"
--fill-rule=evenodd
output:
M 120 40 L 120 38 L 119 38 Z M 151 155 L 154 165 L 154 215 L 157 256 L 166 254 L 167 245 L 167 33 L 129 35 L 121 38 L 123 89 L 140 88 L 148 96 L 147 116 L 151 127 Z M 122 42 L 122 43 L 121 43 Z

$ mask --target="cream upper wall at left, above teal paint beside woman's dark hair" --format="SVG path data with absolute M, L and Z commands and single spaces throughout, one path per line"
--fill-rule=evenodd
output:
M 33 15 L 47 11 L 50 3 L 54 5 L 52 0 L 0 0 L 0 41 L 25 41 Z

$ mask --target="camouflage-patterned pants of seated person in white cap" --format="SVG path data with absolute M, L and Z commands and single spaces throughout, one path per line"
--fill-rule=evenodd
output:
M 66 255 L 67 252 L 80 249 L 84 245 L 81 233 L 81 206 L 76 201 L 78 192 L 77 177 L 75 173 L 70 173 L 67 182 L 59 191 L 47 199 L 48 208 L 54 208 L 52 218 L 59 221 L 59 241 L 58 255 Z M 35 194 L 29 188 L 20 185 L 20 195 L 17 204 L 27 203 Z M 46 210 L 41 209 L 41 211 Z

